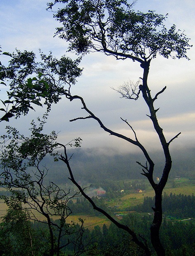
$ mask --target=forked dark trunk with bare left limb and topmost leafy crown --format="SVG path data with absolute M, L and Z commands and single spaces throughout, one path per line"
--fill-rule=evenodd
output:
M 55 0 L 48 3 L 48 9 L 53 9 L 56 4 L 60 8 L 54 13 L 54 17 L 61 24 L 56 28 L 56 34 L 60 38 L 68 41 L 69 50 L 75 51 L 82 56 L 91 51 L 103 52 L 106 55 L 113 55 L 116 59 L 132 59 L 139 62 L 143 69 L 141 82 L 136 85 L 126 84 L 119 88 L 118 92 L 127 99 L 138 100 L 143 97 L 148 106 L 150 114 L 148 117 L 153 123 L 157 133 L 165 162 L 162 170 L 162 177 L 159 183 L 153 179 L 154 162 L 147 149 L 141 144 L 134 128 L 126 119 L 122 119 L 133 131 L 134 138 L 126 137 L 107 128 L 102 121 L 90 111 L 82 97 L 66 94 L 66 97 L 72 101 L 79 99 L 82 103 L 82 109 L 89 114 L 86 117 L 78 119 L 95 119 L 101 128 L 111 135 L 120 137 L 127 142 L 136 145 L 146 157 L 146 164 L 137 162 L 142 167 L 142 175 L 148 178 L 150 185 L 155 191 L 154 219 L 150 228 L 151 242 L 157 255 L 165 255 L 164 248 L 160 242 L 159 230 L 162 223 L 162 191 L 167 183 L 169 172 L 172 168 L 172 159 L 169 152 L 170 143 L 176 139 L 180 133 L 176 134 L 171 140 L 164 136 L 163 129 L 157 120 L 157 111 L 154 102 L 157 97 L 166 90 L 166 86 L 152 96 L 148 85 L 148 73 L 150 62 L 157 55 L 165 58 L 186 58 L 186 52 L 190 48 L 189 39 L 180 30 L 176 30 L 173 25 L 167 29 L 164 21 L 167 18 L 154 11 L 148 13 L 135 12 L 132 7 L 135 1 L 130 5 L 126 0 Z M 65 159 L 63 159 L 65 161 Z M 66 163 L 68 164 L 68 163 Z M 73 178 L 71 177 L 73 180 Z M 89 199 L 88 199 L 89 200 Z

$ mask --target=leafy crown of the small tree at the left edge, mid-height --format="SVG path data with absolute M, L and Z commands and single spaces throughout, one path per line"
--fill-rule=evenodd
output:
M 56 157 L 58 152 L 54 153 L 57 147 L 57 134 L 52 131 L 50 135 L 43 134 L 43 127 L 46 123 L 47 113 L 43 119 L 38 118 L 39 126 L 35 121 L 31 122 L 31 135 L 25 137 L 21 135 L 16 128 L 6 126 L 7 133 L 1 135 L 1 167 L 12 168 L 16 172 L 26 171 L 27 167 L 39 167 L 40 161 L 47 155 Z M 9 143 L 8 143 L 9 142 Z M 27 162 L 24 162 L 27 159 Z M 16 174 L 17 177 L 17 174 Z

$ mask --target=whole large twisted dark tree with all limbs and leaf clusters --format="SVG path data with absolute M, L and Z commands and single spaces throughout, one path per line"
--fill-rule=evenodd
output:
M 160 225 L 162 223 L 162 191 L 172 168 L 169 145 L 180 133 L 170 140 L 165 137 L 162 126 L 157 119 L 157 111 L 159 109 L 154 106 L 154 103 L 156 103 L 158 96 L 166 90 L 166 86 L 162 90 L 152 93 L 148 85 L 148 74 L 151 61 L 158 55 L 167 59 L 188 59 L 186 53 L 191 45 L 189 45 L 189 39 L 186 35 L 182 31 L 177 30 L 175 25 L 169 29 L 165 27 L 164 22 L 167 15 L 156 14 L 154 11 L 149 11 L 148 13 L 135 12 L 132 9 L 135 2 L 130 5 L 126 0 L 55 0 L 48 3 L 48 9 L 53 9 L 59 4 L 60 8 L 54 13 L 54 17 L 61 23 L 61 27 L 57 28 L 56 34 L 70 43 L 70 51 L 75 51 L 81 57 L 89 52 L 97 51 L 115 56 L 116 59 L 124 61 L 132 59 L 133 62 L 139 62 L 143 70 L 143 75 L 140 78 L 141 82 L 135 85 L 133 83 L 126 83 L 117 91 L 120 92 L 122 97 L 129 100 L 139 100 L 142 97 L 149 109 L 150 114 L 148 117 L 159 137 L 165 158 L 159 183 L 156 183 L 153 178 L 155 166 L 153 158 L 148 153 L 146 147 L 142 145 L 136 131 L 127 119 L 122 119 L 122 121 L 132 130 L 133 138 L 107 128 L 99 117 L 87 108 L 82 97 L 72 95 L 71 87 L 75 83 L 76 78 L 81 74 L 81 69 L 78 69 L 80 58 L 73 62 L 66 57 L 57 60 L 52 55 L 46 56 L 41 54 L 42 61 L 38 64 L 30 52 L 24 52 L 25 58 L 21 52 L 12 55 L 9 67 L 6 68 L 1 65 L 0 70 L 1 80 L 9 78 L 12 81 L 10 84 L 11 90 L 8 92 L 9 100 L 2 102 L 4 108 L 1 111 L 4 111 L 5 115 L 1 120 L 8 121 L 9 117 L 13 115 L 17 117 L 20 114 L 27 114 L 28 110 L 32 108 L 32 104 L 41 105 L 40 100 L 42 98 L 45 99 L 45 104 L 50 109 L 51 104 L 57 103 L 61 96 L 64 95 L 70 101 L 80 100 L 82 109 L 87 112 L 87 116 L 78 117 L 70 121 L 94 119 L 110 135 L 119 137 L 138 147 L 146 158 L 146 164 L 139 161 L 137 163 L 142 168 L 142 175 L 148 178 L 155 192 L 154 218 L 150 228 L 151 242 L 157 255 L 164 256 L 165 251 L 159 237 Z M 36 76 L 29 79 L 28 75 L 33 75 L 34 73 Z M 11 109 L 8 108 L 9 104 L 12 106 Z M 7 114 L 9 115 L 6 116 Z M 69 166 L 66 147 L 64 147 L 64 150 L 65 152 L 61 156 L 61 160 Z M 85 196 L 85 192 L 75 181 L 71 168 L 69 168 L 69 172 L 70 179 Z M 91 201 L 91 199 L 87 199 Z M 111 217 L 108 213 L 103 212 L 102 209 L 98 209 L 93 201 L 91 203 L 94 209 L 101 211 L 108 218 Z M 126 229 L 132 235 L 134 242 L 145 251 L 146 255 L 150 255 L 143 237 L 140 240 L 127 226 L 122 226 L 113 218 L 110 219 L 118 227 Z

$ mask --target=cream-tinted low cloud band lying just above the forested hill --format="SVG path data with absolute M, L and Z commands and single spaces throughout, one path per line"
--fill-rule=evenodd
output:
M 176 138 L 170 144 L 170 147 L 172 147 L 173 149 L 193 147 L 193 145 L 195 144 L 195 137 L 192 136 L 192 134 L 195 133 L 194 120 L 195 120 L 195 113 L 186 113 L 178 116 L 159 119 L 159 123 L 162 124 L 162 127 L 164 128 L 164 135 L 167 138 L 167 142 L 169 142 L 169 140 L 171 140 L 180 131 L 182 131 L 182 128 L 185 129 L 181 133 L 181 135 L 179 135 L 179 137 Z M 111 154 L 113 154 L 113 152 L 117 152 L 117 153 L 140 152 L 139 148 L 137 148 L 134 145 L 131 145 L 129 142 L 126 142 L 118 137 L 109 135 L 109 133 L 106 133 L 105 131 L 103 131 L 97 123 L 96 124 L 93 123 L 94 121 L 92 120 L 87 121 L 87 123 L 85 121 L 76 121 L 76 122 L 79 122 L 79 123 L 75 123 L 75 126 L 78 127 L 78 130 L 75 130 L 72 133 L 69 132 L 68 136 L 66 133 L 63 133 L 62 131 L 59 134 L 60 141 L 63 141 L 64 143 L 67 140 L 71 140 L 79 136 L 83 140 L 82 142 L 83 148 L 99 147 L 102 151 L 106 150 L 104 148 L 107 148 L 107 147 L 113 148 L 114 150 L 111 151 L 112 152 Z M 83 126 L 81 122 L 84 122 L 85 126 Z M 186 123 L 188 123 L 188 129 L 186 129 Z M 156 150 L 162 149 L 159 138 L 155 133 L 155 130 L 153 128 L 153 125 L 150 119 L 134 121 L 131 123 L 131 125 L 136 131 L 138 140 L 141 142 L 141 144 L 143 144 L 144 147 L 146 147 L 148 152 L 154 152 Z M 81 129 L 81 126 L 83 129 Z M 117 125 L 117 127 L 115 128 L 113 127 L 113 130 L 117 133 L 120 133 L 122 135 L 125 135 L 135 140 L 134 133 L 128 127 L 119 128 L 119 125 Z M 110 154 L 110 151 L 109 151 L 109 154 Z

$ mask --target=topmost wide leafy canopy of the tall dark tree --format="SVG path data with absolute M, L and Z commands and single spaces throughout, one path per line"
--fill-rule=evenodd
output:
M 61 23 L 56 29 L 60 38 L 70 42 L 70 50 L 85 54 L 90 49 L 116 57 L 143 60 L 163 57 L 186 57 L 188 38 L 173 25 L 167 29 L 167 15 L 135 12 L 127 0 L 54 0 L 48 9 L 63 4 L 54 17 Z

